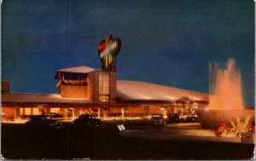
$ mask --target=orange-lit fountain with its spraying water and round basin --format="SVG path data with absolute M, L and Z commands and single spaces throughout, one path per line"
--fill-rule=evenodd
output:
M 243 106 L 241 74 L 236 61 L 229 59 L 225 69 L 211 64 L 209 79 L 209 106 L 197 112 L 201 127 L 217 129 L 222 122 L 231 128 L 231 122 L 248 119 L 247 124 L 252 124 L 254 111 Z

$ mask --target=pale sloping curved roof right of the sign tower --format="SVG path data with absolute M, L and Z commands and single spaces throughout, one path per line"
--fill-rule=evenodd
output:
M 207 94 L 154 83 L 118 80 L 117 90 L 121 101 L 178 101 L 183 97 L 188 97 L 191 101 L 208 101 Z

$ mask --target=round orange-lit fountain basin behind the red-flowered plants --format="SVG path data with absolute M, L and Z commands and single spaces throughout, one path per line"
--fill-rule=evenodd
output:
M 198 110 L 197 115 L 203 129 L 218 129 L 219 122 L 224 121 L 228 127 L 232 127 L 230 120 L 234 120 L 237 117 L 245 119 L 247 116 L 251 116 L 249 124 L 254 121 L 254 110 Z

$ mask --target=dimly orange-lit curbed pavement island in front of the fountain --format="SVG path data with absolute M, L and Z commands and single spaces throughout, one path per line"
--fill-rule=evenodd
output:
M 120 135 L 163 141 L 216 141 L 241 143 L 241 138 L 239 137 L 216 136 L 211 129 L 201 129 L 199 123 L 167 124 L 160 128 L 149 127 L 148 129 L 130 129 L 120 132 Z

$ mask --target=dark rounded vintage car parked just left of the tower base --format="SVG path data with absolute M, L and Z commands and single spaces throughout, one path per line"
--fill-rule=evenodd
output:
M 98 127 L 102 125 L 101 119 L 95 118 L 93 114 L 83 114 L 73 120 L 72 126 L 75 127 Z

